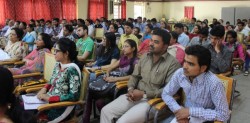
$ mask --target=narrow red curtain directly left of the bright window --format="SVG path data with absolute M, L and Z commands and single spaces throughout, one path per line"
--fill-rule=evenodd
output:
M 95 20 L 97 18 L 108 16 L 108 0 L 89 0 L 88 18 Z

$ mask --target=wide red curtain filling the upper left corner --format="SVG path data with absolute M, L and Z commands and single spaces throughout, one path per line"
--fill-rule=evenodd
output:
M 0 26 L 13 19 L 76 19 L 76 0 L 0 0 Z

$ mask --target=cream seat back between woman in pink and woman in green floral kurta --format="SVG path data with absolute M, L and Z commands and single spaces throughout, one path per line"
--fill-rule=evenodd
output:
M 43 70 L 43 78 L 47 82 L 50 80 L 53 69 L 56 64 L 56 59 L 53 54 L 45 53 L 45 62 L 44 62 L 44 70 Z

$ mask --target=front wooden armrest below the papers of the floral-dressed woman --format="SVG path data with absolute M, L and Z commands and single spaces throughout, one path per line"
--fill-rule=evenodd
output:
M 37 108 L 38 111 L 44 111 L 52 108 L 61 108 L 61 107 L 66 107 L 66 106 L 72 106 L 72 105 L 83 105 L 85 101 L 76 101 L 76 102 L 70 102 L 70 101 L 65 101 L 65 102 L 57 102 L 57 103 L 50 103 L 50 104 L 44 104 L 41 105 Z

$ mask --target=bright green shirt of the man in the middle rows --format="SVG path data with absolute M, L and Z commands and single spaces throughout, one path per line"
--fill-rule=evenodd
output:
M 90 37 L 87 37 L 85 40 L 80 38 L 76 43 L 78 56 L 82 56 L 85 52 L 88 51 L 90 53 L 88 59 L 92 59 L 93 47 L 94 47 L 94 41 Z

